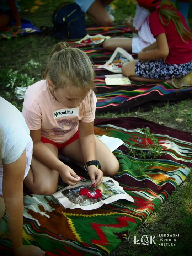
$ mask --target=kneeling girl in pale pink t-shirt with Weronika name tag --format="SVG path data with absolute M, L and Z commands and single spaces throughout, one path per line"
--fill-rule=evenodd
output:
M 58 159 L 67 156 L 87 170 L 95 187 L 103 174 L 114 176 L 119 163 L 94 135 L 96 96 L 89 57 L 64 42 L 50 54 L 43 79 L 26 91 L 22 114 L 33 140 L 31 168 L 24 180 L 32 193 L 56 192 L 59 175 L 75 185 L 80 177 Z M 85 171 L 85 170 L 84 170 Z

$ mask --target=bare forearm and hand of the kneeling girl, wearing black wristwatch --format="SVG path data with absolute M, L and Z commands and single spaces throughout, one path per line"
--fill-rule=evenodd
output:
M 95 136 L 93 123 L 94 122 L 85 123 L 83 121 L 79 121 L 79 141 L 85 163 L 88 161 L 97 160 L 95 154 Z M 95 177 L 97 178 L 95 187 L 103 181 L 103 172 L 95 165 L 90 165 L 88 167 L 88 173 L 92 182 L 95 182 Z

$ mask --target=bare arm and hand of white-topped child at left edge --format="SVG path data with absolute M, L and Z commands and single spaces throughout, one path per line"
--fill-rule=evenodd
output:
M 11 164 L 3 164 L 3 197 L 9 225 L 12 250 L 16 256 L 45 255 L 33 245 L 23 245 L 23 178 L 26 166 L 26 151 Z

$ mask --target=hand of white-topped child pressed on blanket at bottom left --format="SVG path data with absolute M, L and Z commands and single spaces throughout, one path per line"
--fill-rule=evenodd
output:
M 44 256 L 45 251 L 34 245 L 21 245 L 14 250 L 15 256 Z

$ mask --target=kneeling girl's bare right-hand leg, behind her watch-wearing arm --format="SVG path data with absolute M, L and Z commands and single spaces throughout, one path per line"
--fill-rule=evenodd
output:
M 107 148 L 107 146 L 95 136 L 96 143 L 96 160 L 101 164 L 101 170 L 104 175 L 114 176 L 119 170 L 119 162 L 113 153 Z M 81 153 L 79 139 L 67 145 L 62 154 L 71 158 L 81 168 L 84 169 L 84 159 Z

